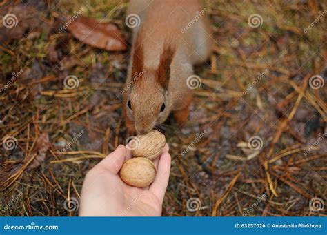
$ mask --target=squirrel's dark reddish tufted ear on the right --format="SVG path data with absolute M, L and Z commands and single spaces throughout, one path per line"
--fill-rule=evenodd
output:
M 176 46 L 172 43 L 164 43 L 164 51 L 160 55 L 159 67 L 157 70 L 157 79 L 159 84 L 168 89 L 170 78 L 170 64 L 176 52 Z

